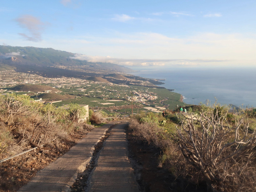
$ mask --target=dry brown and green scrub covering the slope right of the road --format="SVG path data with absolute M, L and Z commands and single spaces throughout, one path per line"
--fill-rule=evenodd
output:
M 176 178 L 206 183 L 209 191 L 254 191 L 255 114 L 248 110 L 230 114 L 227 106 L 216 103 L 189 111 L 167 112 L 165 117 L 140 113 L 129 128 L 161 148 L 159 166 Z

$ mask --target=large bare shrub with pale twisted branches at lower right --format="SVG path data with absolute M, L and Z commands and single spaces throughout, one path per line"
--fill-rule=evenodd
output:
M 255 191 L 256 134 L 248 131 L 247 113 L 229 124 L 228 110 L 214 103 L 202 106 L 199 116 L 179 116 L 179 148 L 209 190 Z

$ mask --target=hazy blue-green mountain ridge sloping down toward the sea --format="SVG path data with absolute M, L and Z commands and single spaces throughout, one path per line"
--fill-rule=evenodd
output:
M 36 47 L 13 47 L 0 45 L 0 64 L 10 65 L 21 70 L 23 66 L 30 68 L 36 67 L 59 67 L 59 68 L 85 68 L 87 72 L 131 72 L 132 69 L 124 66 L 102 63 L 88 62 L 86 60 L 73 59 L 74 53 L 54 50 L 52 48 L 36 48 Z M 33 68 L 35 71 L 36 68 Z M 31 71 L 31 70 L 29 70 Z

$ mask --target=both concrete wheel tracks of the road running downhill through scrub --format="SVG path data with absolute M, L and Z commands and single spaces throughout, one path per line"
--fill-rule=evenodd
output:
M 115 125 L 116 123 L 117 125 Z M 127 123 L 124 122 L 113 122 L 95 128 L 68 153 L 37 172 L 36 176 L 18 191 L 70 191 L 70 186 L 75 182 L 78 173 L 83 172 L 90 162 L 94 146 L 113 126 L 112 134 L 100 152 L 98 164 L 90 176 L 89 188 L 86 191 L 101 191 L 101 189 L 104 191 L 139 191 L 127 157 L 127 141 L 124 132 Z M 128 190 L 123 190 L 124 186 Z

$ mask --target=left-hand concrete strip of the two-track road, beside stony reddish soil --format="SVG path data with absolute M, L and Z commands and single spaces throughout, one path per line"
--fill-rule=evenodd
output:
M 83 172 L 90 162 L 94 146 L 110 126 L 116 122 L 95 128 L 72 147 L 65 155 L 36 173 L 27 185 L 19 192 L 60 192 L 69 191 L 75 182 L 78 172 Z

